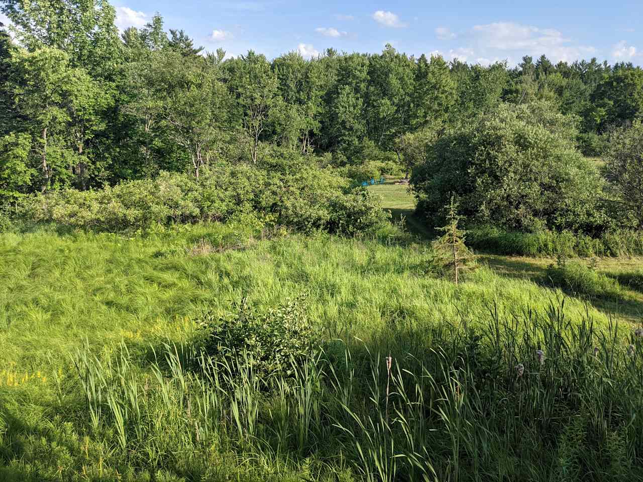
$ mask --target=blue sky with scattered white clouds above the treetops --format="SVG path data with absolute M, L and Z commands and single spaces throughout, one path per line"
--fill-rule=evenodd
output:
M 118 25 L 141 26 L 154 14 L 183 28 L 208 50 L 254 49 L 267 57 L 304 56 L 332 47 L 381 51 L 385 44 L 419 56 L 488 64 L 545 53 L 554 62 L 597 57 L 643 64 L 642 0 L 195 1 L 115 2 Z

